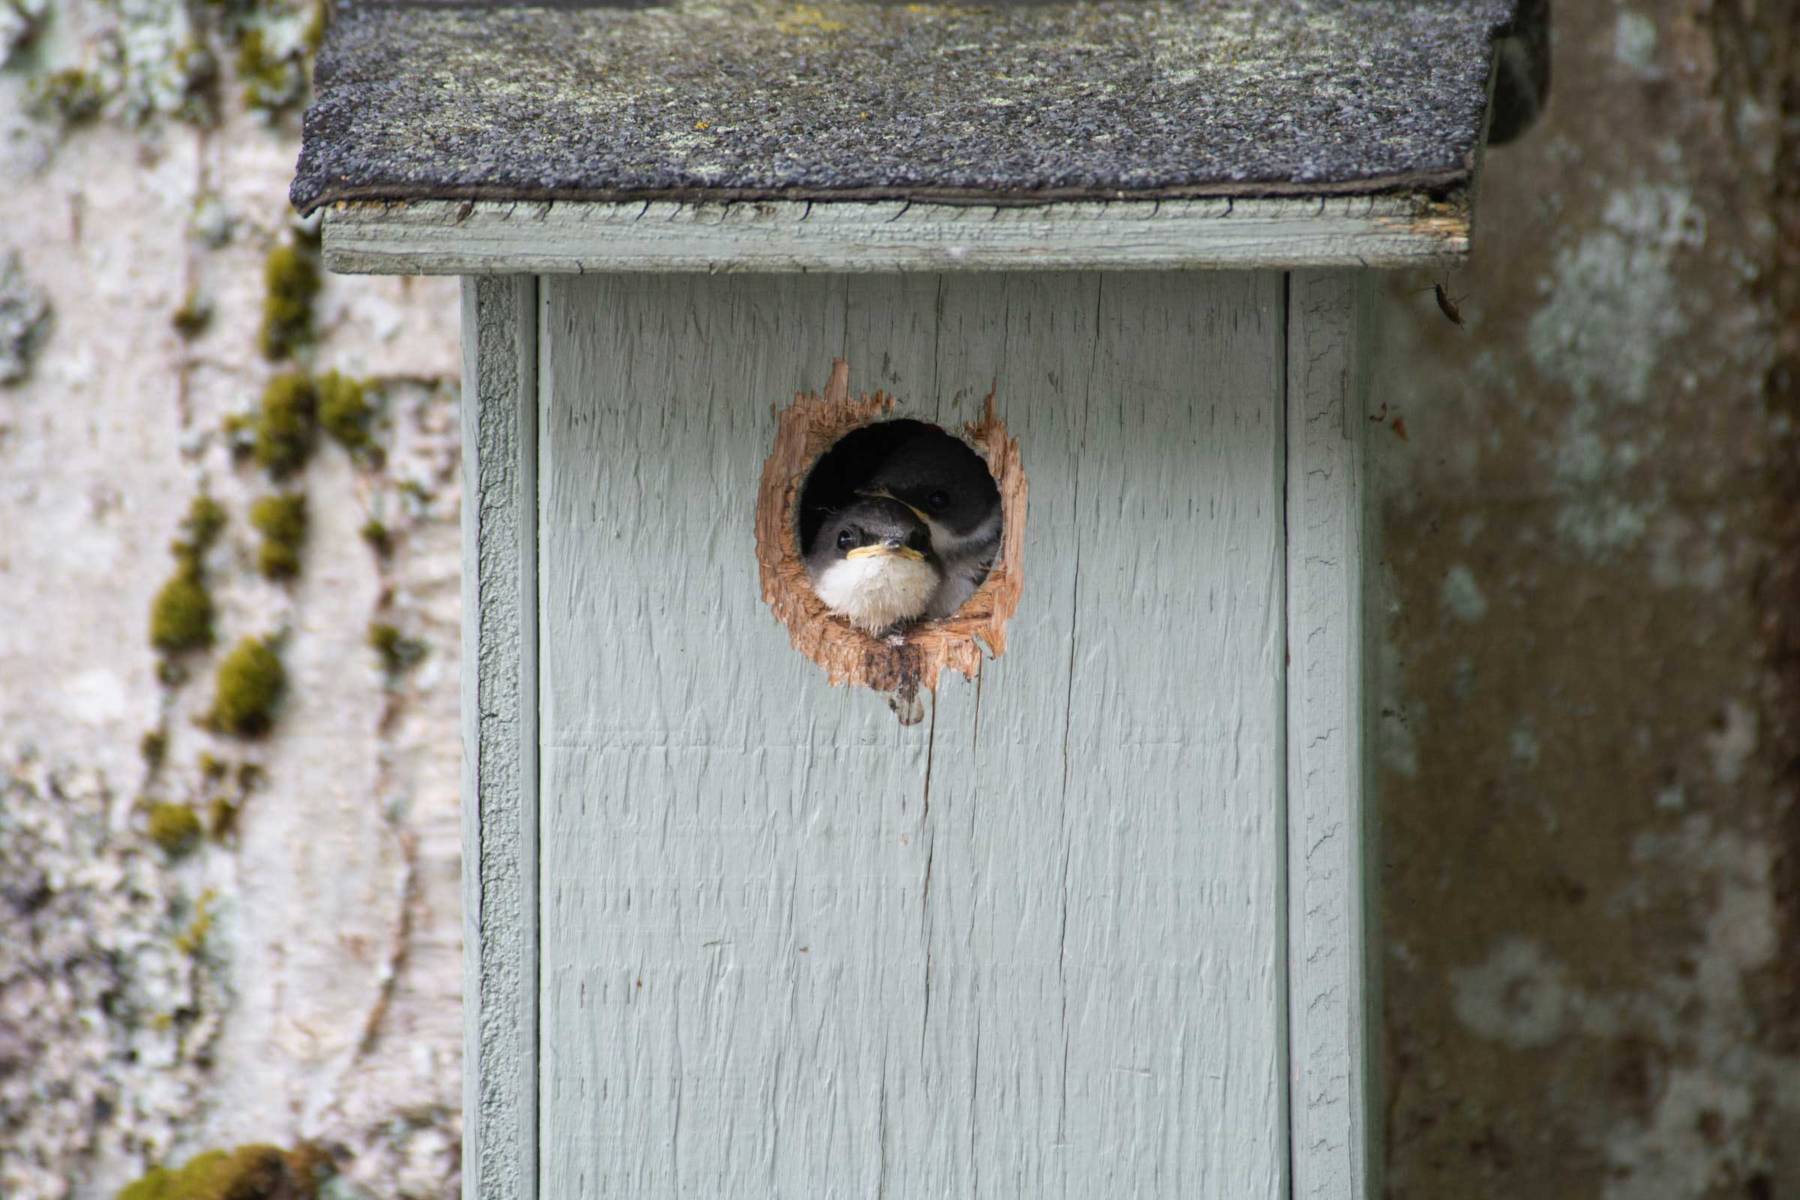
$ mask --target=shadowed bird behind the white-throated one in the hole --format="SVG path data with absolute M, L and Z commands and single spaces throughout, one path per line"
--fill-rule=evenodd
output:
M 900 443 L 857 489 L 907 506 L 931 531 L 941 581 L 925 617 L 956 613 L 994 567 L 1001 545 L 1001 491 L 965 443 L 932 430 Z

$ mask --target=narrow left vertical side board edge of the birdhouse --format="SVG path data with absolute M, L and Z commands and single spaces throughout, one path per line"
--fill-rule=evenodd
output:
M 536 279 L 463 284 L 463 1196 L 536 1196 Z

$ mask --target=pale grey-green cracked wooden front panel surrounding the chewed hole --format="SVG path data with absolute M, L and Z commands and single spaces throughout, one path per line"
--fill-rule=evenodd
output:
M 547 279 L 540 1187 L 1285 1195 L 1282 277 Z M 1031 477 L 902 729 L 761 603 L 770 407 Z

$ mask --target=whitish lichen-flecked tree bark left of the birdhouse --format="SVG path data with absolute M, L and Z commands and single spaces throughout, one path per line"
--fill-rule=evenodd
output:
M 221 423 L 292 367 L 257 349 L 263 261 L 292 239 L 292 128 L 247 113 L 232 79 L 220 128 L 133 124 L 115 106 L 142 72 L 97 122 L 27 112 L 47 68 L 104 61 L 108 29 L 140 47 L 184 20 L 160 7 L 58 5 L 0 74 L 0 259 L 52 309 L 29 374 L 0 387 L 0 1195 L 110 1196 L 153 1162 L 301 1139 L 333 1144 L 360 1195 L 452 1195 L 455 282 L 326 277 L 306 365 L 371 381 L 385 464 L 320 439 L 283 484 L 308 498 L 301 574 L 263 579 L 247 511 L 274 484 Z M 171 327 L 189 291 L 212 308 L 191 342 Z M 229 515 L 205 558 L 218 644 L 169 685 L 149 604 L 202 489 Z M 387 558 L 360 536 L 371 516 Z M 425 657 L 389 673 L 373 622 Z M 274 732 L 200 729 L 221 653 L 277 630 Z M 144 804 L 205 820 L 239 763 L 263 781 L 236 833 L 166 856 Z

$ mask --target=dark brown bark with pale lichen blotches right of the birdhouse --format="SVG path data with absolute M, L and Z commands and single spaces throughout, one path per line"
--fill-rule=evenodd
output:
M 1390 288 L 1395 1200 L 1800 1193 L 1795 14 L 1557 5 L 1467 331 Z

